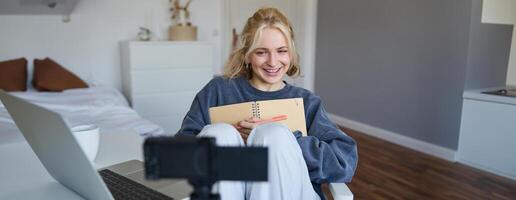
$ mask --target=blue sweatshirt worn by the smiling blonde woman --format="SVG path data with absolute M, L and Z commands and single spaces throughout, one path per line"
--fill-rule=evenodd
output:
M 266 92 L 254 88 L 245 77 L 215 77 L 195 96 L 178 135 L 201 132 L 211 122 L 208 109 L 213 106 L 302 97 L 308 134 L 304 137 L 299 131 L 294 134 L 314 188 L 321 194 L 321 183 L 351 181 L 358 159 L 355 141 L 330 121 L 320 97 L 306 89 L 285 84 L 278 91 Z

